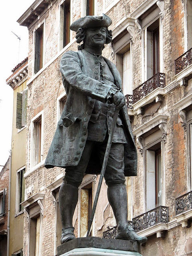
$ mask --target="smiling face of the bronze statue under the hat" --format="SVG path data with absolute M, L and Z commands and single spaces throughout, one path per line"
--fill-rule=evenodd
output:
M 91 47 L 104 46 L 106 42 L 106 27 L 94 27 L 86 30 L 85 45 Z

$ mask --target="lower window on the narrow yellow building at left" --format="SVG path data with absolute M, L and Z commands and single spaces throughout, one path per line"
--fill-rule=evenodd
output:
M 25 168 L 17 172 L 17 188 L 16 188 L 16 214 L 24 210 L 21 203 L 25 200 Z

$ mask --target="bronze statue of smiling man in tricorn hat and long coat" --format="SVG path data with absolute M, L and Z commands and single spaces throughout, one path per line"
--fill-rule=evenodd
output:
M 111 19 L 85 16 L 70 29 L 76 31 L 78 51 L 63 54 L 60 62 L 66 104 L 48 151 L 45 166 L 66 168 L 59 191 L 62 220 L 61 243 L 75 238 L 72 218 L 78 202 L 78 187 L 85 173 L 99 174 L 111 130 L 113 113 L 119 116 L 104 178 L 108 200 L 117 222 L 116 239 L 144 243 L 128 223 L 125 176 L 137 175 L 137 152 L 116 66 L 102 56 L 104 44 L 112 41 Z

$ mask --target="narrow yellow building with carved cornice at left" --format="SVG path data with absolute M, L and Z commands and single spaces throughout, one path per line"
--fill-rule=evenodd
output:
M 28 58 L 19 63 L 6 83 L 13 89 L 13 122 L 10 156 L 10 203 L 8 255 L 23 255 L 24 208 L 26 172 L 26 114 Z

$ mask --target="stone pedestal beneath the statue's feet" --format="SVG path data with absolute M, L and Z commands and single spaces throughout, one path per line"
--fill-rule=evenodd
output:
M 142 256 L 137 242 L 81 237 L 57 247 L 58 256 Z

